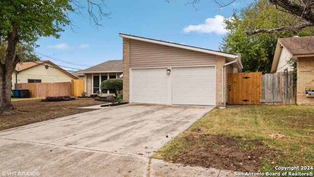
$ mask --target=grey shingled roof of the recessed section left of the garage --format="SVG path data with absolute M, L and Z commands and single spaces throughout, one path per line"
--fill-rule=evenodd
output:
M 108 60 L 98 65 L 80 71 L 81 73 L 102 73 L 102 72 L 122 72 L 123 61 L 122 59 Z

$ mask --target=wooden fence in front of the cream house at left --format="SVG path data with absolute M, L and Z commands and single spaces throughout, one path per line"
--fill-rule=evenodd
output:
M 47 96 L 81 96 L 84 90 L 84 80 L 72 80 L 63 83 L 21 83 L 15 84 L 15 89 L 28 89 L 30 97 Z

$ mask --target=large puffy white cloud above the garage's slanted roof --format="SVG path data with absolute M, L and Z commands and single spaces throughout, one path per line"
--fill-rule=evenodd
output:
M 199 33 L 216 33 L 218 35 L 225 34 L 227 29 L 224 27 L 224 17 L 216 15 L 215 18 L 208 18 L 204 24 L 189 25 L 184 27 L 183 32 L 199 32 Z

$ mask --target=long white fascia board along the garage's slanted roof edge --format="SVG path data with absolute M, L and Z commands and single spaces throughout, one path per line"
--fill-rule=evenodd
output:
M 148 39 L 148 38 L 142 38 L 142 37 L 137 37 L 137 36 L 132 36 L 132 35 L 127 35 L 127 34 L 119 34 L 120 37 L 124 38 L 129 38 L 129 39 L 134 39 L 134 40 L 140 40 L 144 42 L 150 42 L 150 43 L 155 43 L 155 44 L 161 44 L 161 45 L 166 45 L 166 46 L 171 46 L 171 47 L 177 47 L 177 48 L 182 48 L 182 49 L 187 49 L 187 50 L 192 50 L 192 51 L 197 51 L 197 52 L 203 52 L 207 54 L 212 54 L 212 55 L 218 55 L 222 57 L 228 57 L 235 59 L 238 56 L 235 54 L 226 54 L 222 52 L 217 52 L 217 51 L 212 51 L 212 50 L 207 50 L 207 49 L 201 49 L 197 47 L 191 47 L 191 46 L 185 46 L 185 45 L 180 45 L 180 44 L 175 44 L 175 43 L 170 43 L 170 42 L 164 42 L 164 41 L 159 41 L 159 40 L 154 40 L 154 39 Z

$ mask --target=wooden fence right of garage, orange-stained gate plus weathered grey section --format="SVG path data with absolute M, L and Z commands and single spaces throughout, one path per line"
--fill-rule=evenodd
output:
M 295 104 L 296 87 L 292 72 L 272 74 L 231 73 L 228 75 L 228 104 Z

